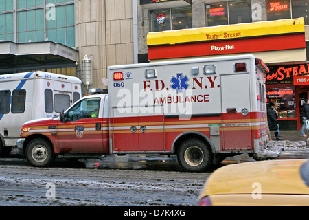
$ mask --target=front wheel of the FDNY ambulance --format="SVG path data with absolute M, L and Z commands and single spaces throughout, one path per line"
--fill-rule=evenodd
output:
M 26 157 L 32 166 L 47 167 L 54 162 L 52 145 L 44 139 L 32 140 L 26 148 Z

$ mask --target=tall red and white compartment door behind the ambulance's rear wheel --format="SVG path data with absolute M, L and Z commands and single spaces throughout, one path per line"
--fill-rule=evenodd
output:
M 220 76 L 223 150 L 248 150 L 252 145 L 249 73 Z

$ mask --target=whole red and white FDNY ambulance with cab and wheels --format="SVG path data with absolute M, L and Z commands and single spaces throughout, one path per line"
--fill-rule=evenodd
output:
M 108 67 L 108 94 L 26 122 L 18 146 L 34 166 L 57 155 L 155 153 L 202 171 L 240 153 L 276 157 L 265 153 L 267 71 L 252 55 Z

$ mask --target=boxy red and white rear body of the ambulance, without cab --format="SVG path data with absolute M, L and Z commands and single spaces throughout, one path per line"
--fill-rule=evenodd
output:
M 266 126 L 256 71 L 251 55 L 109 67 L 111 152 L 176 153 L 187 138 L 212 153 L 253 152 Z

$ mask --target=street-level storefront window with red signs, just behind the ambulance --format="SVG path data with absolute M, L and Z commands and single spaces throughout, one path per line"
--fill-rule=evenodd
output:
M 293 87 L 266 89 L 266 98 L 268 102 L 278 104 L 279 118 L 296 118 L 295 89 Z

